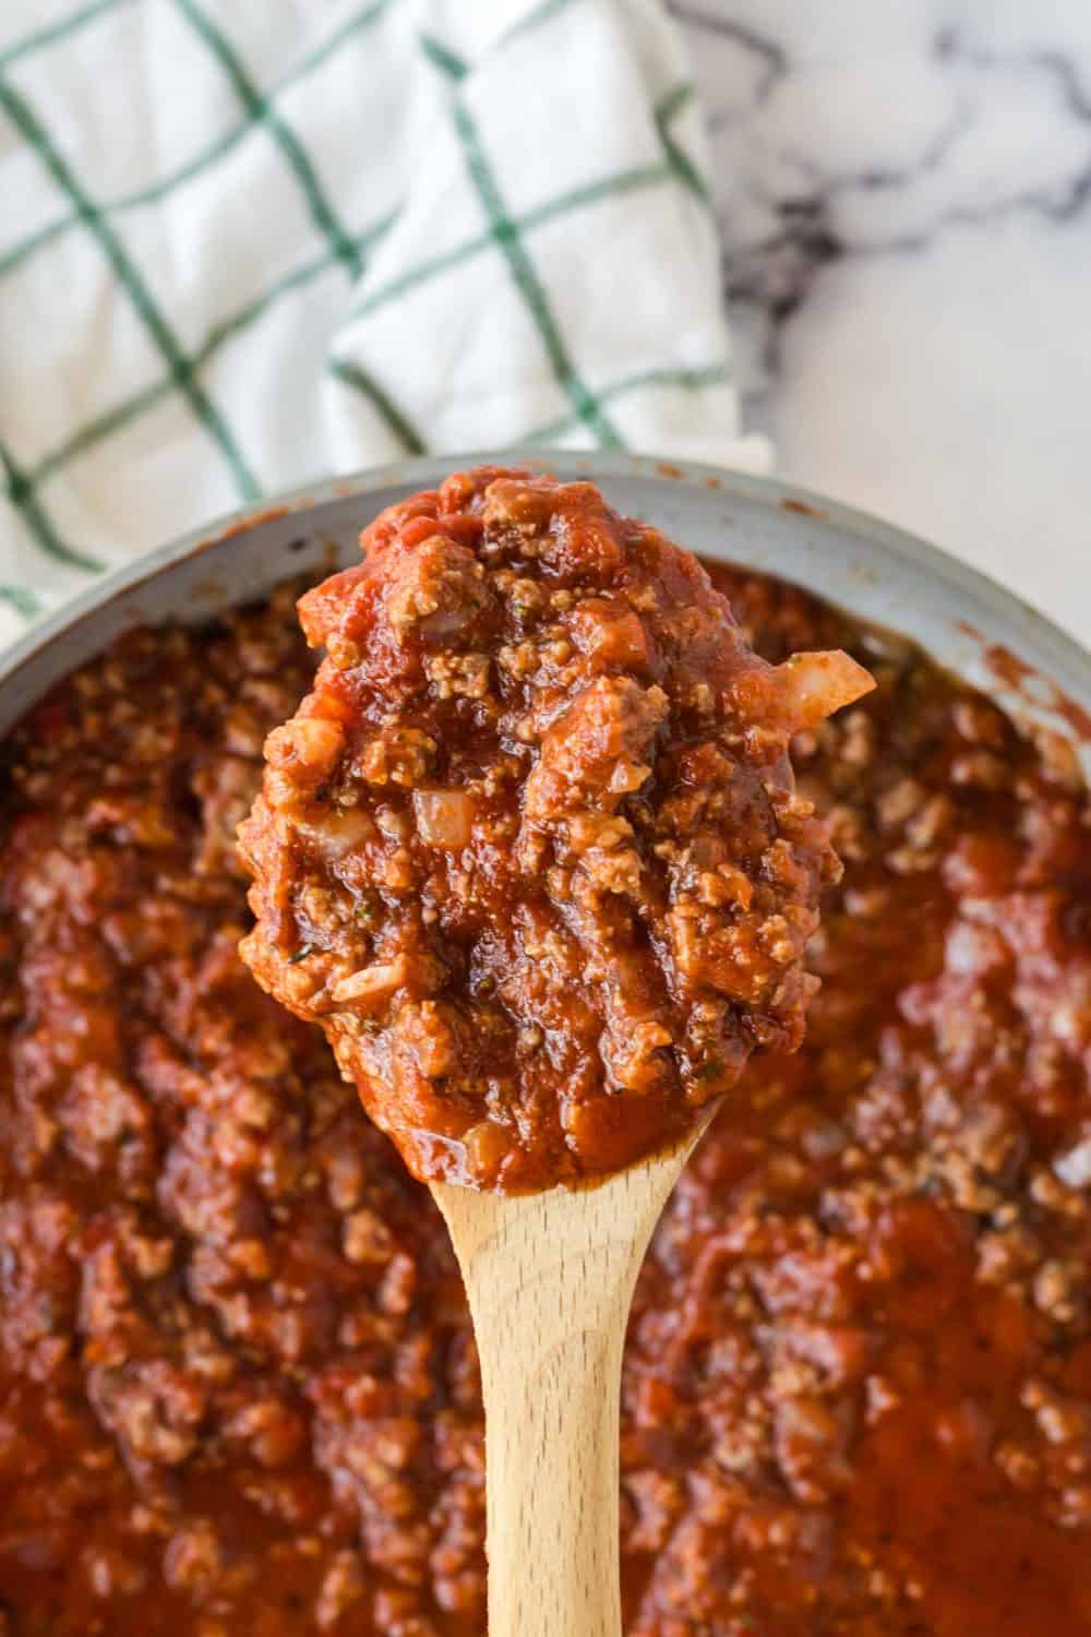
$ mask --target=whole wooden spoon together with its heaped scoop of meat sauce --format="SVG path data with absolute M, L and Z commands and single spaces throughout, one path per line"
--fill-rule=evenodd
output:
M 479 1134 L 501 1128 L 512 1180 L 540 1175 L 543 1116 L 522 1138 L 512 1116 L 561 1100 L 563 1062 L 589 1103 L 569 1164 L 607 1098 L 623 1123 L 641 1085 L 669 1087 L 676 1131 L 748 1043 L 798 1035 L 806 985 L 788 979 L 833 855 L 792 797 L 788 738 L 872 678 L 844 653 L 765 665 L 698 563 L 587 483 L 453 476 L 363 545 L 299 604 L 327 653 L 239 830 L 244 959 L 322 1025 L 415 1175 L 458 1126 L 491 1188 L 468 1108 Z M 564 1018 L 556 1064 L 519 1046 L 497 1064 L 540 1017 Z M 504 1107 L 451 1094 L 496 1067 Z M 689 1148 L 589 1192 L 433 1185 L 481 1354 L 491 1637 L 620 1634 L 625 1321 Z

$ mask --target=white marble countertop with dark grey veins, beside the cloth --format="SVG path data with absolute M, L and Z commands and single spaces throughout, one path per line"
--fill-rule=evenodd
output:
M 1091 640 L 1091 0 L 672 0 L 779 471 Z

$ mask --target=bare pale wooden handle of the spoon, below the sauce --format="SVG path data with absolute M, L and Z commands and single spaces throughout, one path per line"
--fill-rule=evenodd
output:
M 640 1264 L 702 1136 L 594 1188 L 432 1184 L 478 1337 L 489 1637 L 618 1637 L 622 1347 Z

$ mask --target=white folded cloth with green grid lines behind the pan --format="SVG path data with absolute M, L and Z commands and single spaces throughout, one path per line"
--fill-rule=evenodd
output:
M 0 640 L 406 453 L 761 467 L 656 0 L 3 0 Z

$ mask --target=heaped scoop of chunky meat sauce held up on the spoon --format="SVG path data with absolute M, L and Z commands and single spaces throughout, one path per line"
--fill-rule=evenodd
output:
M 245 961 L 422 1180 L 527 1192 L 677 1144 L 803 1038 L 839 864 L 787 748 L 870 676 L 767 665 L 590 483 L 456 473 L 361 547 L 299 604 L 326 658 L 239 832 Z

